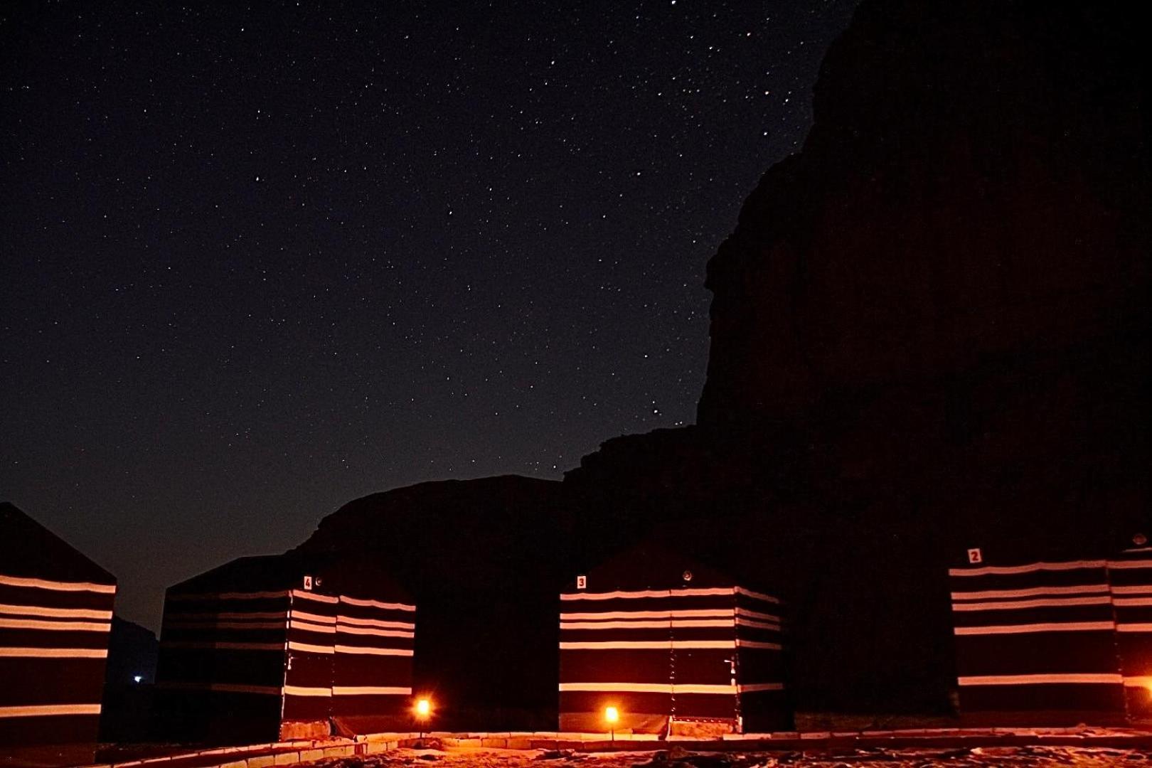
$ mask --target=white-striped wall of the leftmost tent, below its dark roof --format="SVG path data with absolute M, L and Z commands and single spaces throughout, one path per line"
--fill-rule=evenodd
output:
M 116 586 L 55 580 L 51 562 L 35 578 L 6 573 L 6 564 L 0 562 L 0 747 L 94 744 Z

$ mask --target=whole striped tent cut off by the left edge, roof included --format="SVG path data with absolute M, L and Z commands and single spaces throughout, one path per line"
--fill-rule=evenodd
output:
M 116 579 L 0 504 L 0 747 L 96 744 Z

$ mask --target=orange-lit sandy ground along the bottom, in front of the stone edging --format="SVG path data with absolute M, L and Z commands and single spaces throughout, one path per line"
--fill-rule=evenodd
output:
M 948 766 L 1152 766 L 1152 750 L 1105 747 L 971 747 L 851 750 L 811 752 L 668 752 L 570 753 L 540 750 L 397 750 L 370 758 L 326 760 L 327 768 L 399 768 L 444 766 L 445 768 L 929 768 Z

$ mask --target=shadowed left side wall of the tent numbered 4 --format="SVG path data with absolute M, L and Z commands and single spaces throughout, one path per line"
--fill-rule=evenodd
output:
M 162 735 L 274 740 L 288 615 L 287 591 L 168 590 L 157 669 Z

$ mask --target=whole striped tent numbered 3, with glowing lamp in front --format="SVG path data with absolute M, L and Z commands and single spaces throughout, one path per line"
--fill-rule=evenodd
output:
M 560 603 L 562 731 L 708 735 L 790 722 L 775 598 L 647 545 L 577 577 Z

